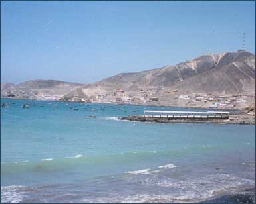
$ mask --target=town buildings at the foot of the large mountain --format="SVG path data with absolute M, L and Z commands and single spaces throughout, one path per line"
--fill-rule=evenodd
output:
M 190 102 L 190 106 L 205 106 L 210 108 L 235 109 L 242 103 L 255 100 L 255 95 L 215 95 L 215 94 L 179 94 L 176 90 L 165 91 L 164 95 L 158 97 L 156 91 L 140 90 L 134 95 L 126 93 L 122 89 L 116 89 L 114 93 L 96 94 L 88 98 L 75 95 L 72 101 L 86 103 L 122 103 L 148 105 L 150 103 L 161 104 L 165 99 L 172 99 L 170 102 L 180 102 L 181 105 Z M 51 99 L 56 99 L 55 97 Z M 63 100 L 63 98 L 60 98 Z M 172 103 L 170 103 L 172 104 Z

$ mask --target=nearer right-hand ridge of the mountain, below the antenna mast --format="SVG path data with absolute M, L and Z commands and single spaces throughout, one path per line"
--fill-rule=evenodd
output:
M 174 85 L 197 93 L 255 94 L 255 55 L 249 52 L 223 54 L 215 67 Z

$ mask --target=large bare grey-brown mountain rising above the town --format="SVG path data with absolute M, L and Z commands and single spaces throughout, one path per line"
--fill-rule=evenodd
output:
M 86 95 L 95 95 L 115 89 L 176 89 L 193 93 L 255 94 L 255 54 L 245 50 L 207 54 L 175 66 L 117 74 L 82 87 L 81 91 Z

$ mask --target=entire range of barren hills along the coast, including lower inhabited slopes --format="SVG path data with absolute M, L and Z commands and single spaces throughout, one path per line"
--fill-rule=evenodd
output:
M 100 99 L 102 102 L 123 100 L 144 104 L 159 100 L 156 103 L 178 106 L 184 103 L 185 106 L 188 101 L 180 101 L 180 95 L 197 93 L 255 95 L 255 54 L 245 50 L 206 54 L 174 66 L 117 74 L 93 84 L 54 80 L 25 81 L 19 85 L 1 83 L 1 97 L 39 100 Z

